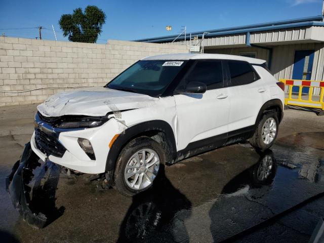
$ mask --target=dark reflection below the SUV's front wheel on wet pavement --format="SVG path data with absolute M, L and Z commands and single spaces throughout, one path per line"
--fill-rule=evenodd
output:
M 119 231 L 118 242 L 186 242 L 184 220 L 191 203 L 160 168 L 154 187 L 133 196 Z

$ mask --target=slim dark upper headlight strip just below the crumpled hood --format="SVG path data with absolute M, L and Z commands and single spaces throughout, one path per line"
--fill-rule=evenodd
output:
M 58 128 L 95 128 L 103 125 L 108 121 L 108 117 L 88 116 L 88 117 L 64 117 L 61 123 L 58 124 Z

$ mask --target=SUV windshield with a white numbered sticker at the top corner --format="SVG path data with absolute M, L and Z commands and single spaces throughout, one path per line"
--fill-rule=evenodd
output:
M 186 61 L 138 61 L 105 87 L 156 97 L 163 94 L 185 63 Z

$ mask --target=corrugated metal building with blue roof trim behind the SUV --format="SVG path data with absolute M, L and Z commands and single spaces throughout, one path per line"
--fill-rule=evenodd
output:
M 322 15 L 197 31 L 183 34 L 178 38 L 177 36 L 169 35 L 136 41 L 188 45 L 191 50 L 204 53 L 264 59 L 277 79 L 324 80 Z M 314 94 L 317 93 L 319 89 L 314 90 Z

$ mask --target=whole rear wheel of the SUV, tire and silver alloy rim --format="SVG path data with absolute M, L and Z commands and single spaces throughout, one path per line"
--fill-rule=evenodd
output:
M 253 137 L 249 139 L 250 144 L 260 150 L 270 148 L 277 137 L 278 126 L 276 112 L 265 113 L 259 121 Z

